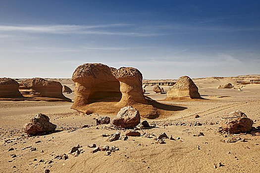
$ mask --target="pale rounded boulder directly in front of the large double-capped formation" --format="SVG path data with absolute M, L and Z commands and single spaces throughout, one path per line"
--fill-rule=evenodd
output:
M 116 117 L 112 120 L 112 124 L 116 127 L 133 129 L 140 123 L 139 111 L 132 106 L 127 106 L 117 113 Z

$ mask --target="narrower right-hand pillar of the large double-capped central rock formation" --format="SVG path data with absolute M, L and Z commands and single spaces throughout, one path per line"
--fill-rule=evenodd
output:
M 121 67 L 117 70 L 116 79 L 120 83 L 122 98 L 118 104 L 132 105 L 133 103 L 147 103 L 142 88 L 142 73 L 132 67 Z

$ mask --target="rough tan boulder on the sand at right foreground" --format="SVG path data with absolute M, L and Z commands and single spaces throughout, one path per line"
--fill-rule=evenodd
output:
M 234 111 L 222 118 L 221 127 L 230 133 L 249 132 L 252 130 L 253 121 L 241 112 Z

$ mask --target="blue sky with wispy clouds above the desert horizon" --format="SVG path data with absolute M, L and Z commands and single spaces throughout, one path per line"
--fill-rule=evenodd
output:
M 145 79 L 260 74 L 258 0 L 0 0 L 0 77 L 71 78 L 78 65 Z

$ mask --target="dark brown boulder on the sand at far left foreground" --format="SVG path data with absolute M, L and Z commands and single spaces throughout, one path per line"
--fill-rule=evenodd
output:
M 24 126 L 24 131 L 31 135 L 52 132 L 56 129 L 56 125 L 50 123 L 48 116 L 37 114 L 28 124 Z

